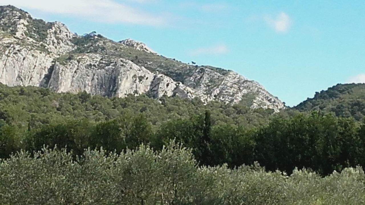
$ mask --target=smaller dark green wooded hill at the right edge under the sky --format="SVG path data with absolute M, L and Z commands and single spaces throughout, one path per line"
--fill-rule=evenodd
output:
M 340 117 L 365 117 L 365 84 L 337 84 L 327 90 L 316 92 L 293 109 L 303 111 L 322 111 Z

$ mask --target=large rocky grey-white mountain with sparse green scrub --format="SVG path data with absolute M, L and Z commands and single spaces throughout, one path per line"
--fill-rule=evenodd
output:
M 276 112 L 284 108 L 258 82 L 234 71 L 188 65 L 131 39 L 114 42 L 95 32 L 80 36 L 13 6 L 0 7 L 0 51 L 0 82 L 9 86 L 108 97 L 197 97 Z

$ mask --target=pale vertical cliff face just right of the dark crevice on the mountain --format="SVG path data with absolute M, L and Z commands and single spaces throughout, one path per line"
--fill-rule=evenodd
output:
M 56 62 L 48 87 L 57 92 L 81 92 L 126 97 L 146 93 L 153 73 L 125 59 L 102 65 L 102 56 L 85 54 L 65 65 Z M 99 69 L 103 66 L 103 69 Z

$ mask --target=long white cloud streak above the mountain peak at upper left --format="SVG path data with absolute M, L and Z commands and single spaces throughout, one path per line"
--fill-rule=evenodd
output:
M 161 16 L 151 15 L 114 0 L 0 0 L 0 4 L 11 4 L 23 9 L 34 9 L 47 13 L 73 15 L 98 22 L 150 26 L 160 26 L 166 23 L 166 19 Z

